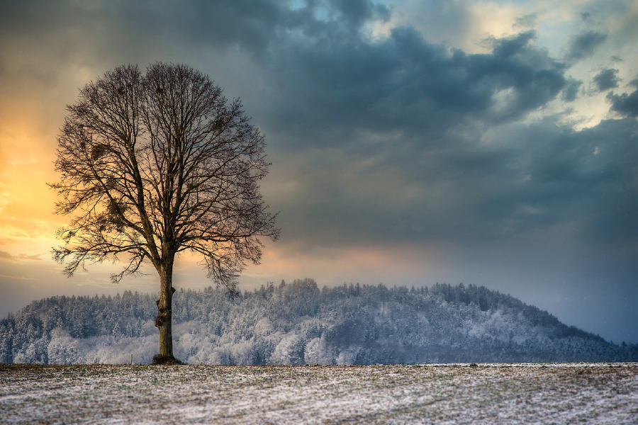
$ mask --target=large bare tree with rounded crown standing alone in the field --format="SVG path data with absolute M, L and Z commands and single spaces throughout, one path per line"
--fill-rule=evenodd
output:
M 208 277 L 237 292 L 247 261 L 276 240 L 275 215 L 259 194 L 267 174 L 264 137 L 239 100 L 227 101 L 208 76 L 158 62 L 142 75 L 118 67 L 86 84 L 58 137 L 53 257 L 72 276 L 79 267 L 123 261 L 114 283 L 150 262 L 159 273 L 157 361 L 174 362 L 173 265 L 183 251 L 201 254 Z

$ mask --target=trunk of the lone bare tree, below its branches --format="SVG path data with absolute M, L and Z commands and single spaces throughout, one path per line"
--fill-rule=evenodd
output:
M 159 329 L 160 363 L 174 361 L 173 356 L 173 258 L 162 261 L 159 273 L 159 300 L 157 300 L 157 317 L 155 326 Z

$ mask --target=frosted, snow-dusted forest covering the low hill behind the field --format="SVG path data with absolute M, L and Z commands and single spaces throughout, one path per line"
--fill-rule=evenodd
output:
M 0 320 L 0 363 L 150 363 L 157 295 L 51 297 Z M 173 298 L 177 358 L 191 364 L 638 361 L 537 307 L 482 286 L 341 285 L 312 279 L 231 298 Z

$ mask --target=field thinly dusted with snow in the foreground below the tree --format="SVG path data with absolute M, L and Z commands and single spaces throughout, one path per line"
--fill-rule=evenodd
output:
M 0 418 L 5 424 L 635 424 L 638 363 L 0 364 Z

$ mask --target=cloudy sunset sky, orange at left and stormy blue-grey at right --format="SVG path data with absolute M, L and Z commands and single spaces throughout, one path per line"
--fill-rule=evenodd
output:
M 123 64 L 188 64 L 241 98 L 281 239 L 240 289 L 484 285 L 638 343 L 638 3 L 0 0 L 0 317 L 157 292 L 50 250 L 57 135 Z M 177 288 L 211 285 L 194 256 Z

